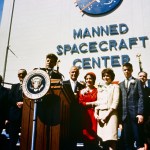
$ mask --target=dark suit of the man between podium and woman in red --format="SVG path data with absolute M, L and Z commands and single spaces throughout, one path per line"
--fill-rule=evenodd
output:
M 72 150 L 76 149 L 77 142 L 81 140 L 81 108 L 78 102 L 78 94 L 81 89 L 84 88 L 82 84 L 76 82 L 74 91 L 71 87 L 70 80 L 63 81 L 63 88 L 67 91 L 68 94 L 72 97 L 70 102 L 70 148 Z M 77 94 L 75 97 L 74 93 Z

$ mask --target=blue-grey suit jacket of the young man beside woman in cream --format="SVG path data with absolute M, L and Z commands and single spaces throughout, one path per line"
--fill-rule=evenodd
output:
M 137 115 L 143 115 L 144 101 L 143 101 L 143 87 L 141 81 L 132 78 L 133 83 L 130 83 L 128 90 L 125 88 L 125 81 L 119 84 L 120 86 L 120 115 L 121 120 L 124 121 L 128 115 L 131 119 L 136 120 Z

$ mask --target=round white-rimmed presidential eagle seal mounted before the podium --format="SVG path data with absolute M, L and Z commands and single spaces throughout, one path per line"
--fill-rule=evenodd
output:
M 22 84 L 24 95 L 33 100 L 43 97 L 48 92 L 49 88 L 49 75 L 40 69 L 28 73 Z

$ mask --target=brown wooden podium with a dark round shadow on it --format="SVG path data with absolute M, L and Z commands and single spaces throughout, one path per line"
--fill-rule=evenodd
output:
M 69 140 L 71 97 L 62 85 L 51 85 L 37 102 L 35 150 L 62 150 Z M 34 100 L 24 98 L 20 150 L 31 150 Z

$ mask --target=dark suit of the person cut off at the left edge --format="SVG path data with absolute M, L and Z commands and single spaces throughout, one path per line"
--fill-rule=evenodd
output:
M 0 133 L 8 119 L 8 89 L 0 85 Z

